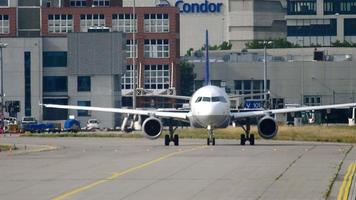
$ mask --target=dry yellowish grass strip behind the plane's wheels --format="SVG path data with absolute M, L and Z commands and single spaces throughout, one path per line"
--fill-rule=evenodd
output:
M 164 131 L 163 137 L 168 131 Z M 176 130 L 180 138 L 205 139 L 207 137 L 206 129 L 178 128 Z M 240 139 L 244 131 L 239 127 L 228 127 L 226 129 L 216 129 L 214 131 L 217 139 Z M 259 139 L 257 127 L 251 127 L 251 133 Z M 80 132 L 80 133 L 60 133 L 60 134 L 37 134 L 26 133 L 27 137 L 120 137 L 120 138 L 141 138 L 142 132 L 122 133 L 122 132 Z M 305 125 L 301 127 L 280 126 L 277 136 L 274 140 L 292 140 L 292 141 L 317 141 L 317 142 L 339 142 L 356 143 L 356 127 L 346 125 Z

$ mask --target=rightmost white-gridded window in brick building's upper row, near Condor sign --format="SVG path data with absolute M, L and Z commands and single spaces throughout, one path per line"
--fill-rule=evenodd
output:
M 169 32 L 168 14 L 145 14 L 144 29 L 145 32 Z

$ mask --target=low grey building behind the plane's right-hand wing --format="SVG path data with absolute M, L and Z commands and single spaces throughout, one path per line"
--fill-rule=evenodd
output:
M 213 85 L 225 88 L 231 95 L 263 93 L 263 49 L 211 51 L 209 56 Z M 355 102 L 355 56 L 354 48 L 268 49 L 266 82 L 270 107 Z M 205 57 L 184 59 L 195 66 L 196 90 L 203 85 Z M 254 97 L 256 102 L 263 98 L 263 95 Z M 238 100 L 232 102 L 233 107 L 254 108 Z

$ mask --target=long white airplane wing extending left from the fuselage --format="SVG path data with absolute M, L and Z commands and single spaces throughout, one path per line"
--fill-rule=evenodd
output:
M 175 118 L 187 120 L 189 112 L 174 112 L 174 111 L 159 111 L 159 110 L 144 110 L 144 109 L 125 109 L 125 108 L 105 108 L 105 107 L 91 107 L 91 106 L 72 106 L 72 105 L 57 105 L 57 104 L 40 104 L 46 108 L 59 108 L 69 110 L 89 110 L 101 111 L 134 115 L 147 115 L 163 118 Z

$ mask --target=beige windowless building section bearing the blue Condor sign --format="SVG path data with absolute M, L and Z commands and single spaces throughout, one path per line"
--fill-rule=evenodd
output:
M 123 0 L 123 6 L 132 6 Z M 286 0 L 137 0 L 137 6 L 176 6 L 180 11 L 180 55 L 204 45 L 208 29 L 210 45 L 230 42 L 245 48 L 251 40 L 285 38 Z

